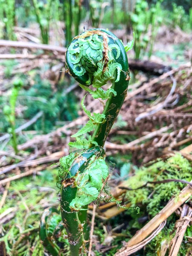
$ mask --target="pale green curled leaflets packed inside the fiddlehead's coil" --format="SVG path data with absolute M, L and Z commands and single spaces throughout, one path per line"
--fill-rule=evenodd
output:
M 103 37 L 102 37 L 103 36 Z M 74 40 L 67 49 L 69 61 L 73 64 L 73 72 L 76 76 L 88 75 L 87 85 L 99 88 L 109 80 L 119 81 L 121 64 L 115 62 L 119 58 L 120 49 L 116 44 L 108 45 L 108 62 L 103 61 L 104 39 L 109 42 L 109 38 L 101 31 L 98 34 L 90 35 L 84 32 L 77 40 Z M 116 55 L 113 54 L 113 49 Z M 106 67 L 105 67 L 106 65 Z M 103 70 L 105 69 L 105 72 Z

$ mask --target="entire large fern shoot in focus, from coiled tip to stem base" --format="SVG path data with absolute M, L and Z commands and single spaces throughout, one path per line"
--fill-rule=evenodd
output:
M 57 186 L 61 195 L 61 217 L 72 256 L 85 253 L 87 206 L 101 197 L 108 180 L 108 166 L 102 147 L 127 93 L 129 73 L 126 51 L 132 46 L 131 43 L 124 47 L 108 30 L 91 29 L 76 36 L 66 52 L 67 72 L 94 99 L 107 100 L 102 114 L 91 114 L 84 105 L 84 96 L 81 105 L 89 121 L 72 136 L 76 137 L 76 142 L 70 143 L 84 150 L 60 159 Z M 112 81 L 113 85 L 105 91 L 101 87 L 108 81 Z M 89 88 L 91 84 L 95 90 Z M 83 134 L 93 130 L 92 138 L 87 140 Z

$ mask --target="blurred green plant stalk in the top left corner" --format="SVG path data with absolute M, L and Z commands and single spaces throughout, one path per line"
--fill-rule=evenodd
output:
M 6 27 L 6 35 L 9 40 L 15 40 L 15 0 L 0 0 L 0 19 Z

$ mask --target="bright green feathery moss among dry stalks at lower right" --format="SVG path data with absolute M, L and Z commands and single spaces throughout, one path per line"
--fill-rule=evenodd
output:
M 159 160 L 157 163 L 151 164 L 149 167 L 142 167 L 136 171 L 136 175 L 129 178 L 127 186 L 131 188 L 138 188 L 144 185 L 147 181 L 166 179 L 181 179 L 192 180 L 192 165 L 180 154 L 163 161 Z M 177 196 L 186 184 L 180 182 L 148 184 L 142 189 L 128 191 L 126 198 L 131 202 L 131 207 L 135 207 L 138 203 L 146 205 L 147 214 L 152 217 L 165 206 L 165 204 L 172 198 Z M 152 194 L 151 194 L 152 193 Z M 149 197 L 149 195 L 151 195 Z M 160 250 L 163 241 L 170 241 L 174 236 L 175 221 L 177 217 L 172 214 L 167 221 L 166 227 L 156 236 L 150 244 L 146 247 L 146 255 L 152 256 Z M 188 229 L 190 233 L 190 230 Z M 171 235 L 170 235 L 171 234 Z M 183 241 L 179 256 L 185 255 L 189 248 L 189 243 Z

